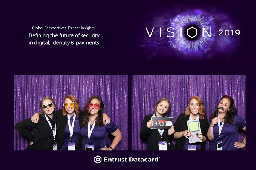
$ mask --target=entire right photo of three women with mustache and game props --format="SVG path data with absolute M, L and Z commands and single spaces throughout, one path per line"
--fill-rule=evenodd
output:
M 132 75 L 132 150 L 245 150 L 245 75 Z

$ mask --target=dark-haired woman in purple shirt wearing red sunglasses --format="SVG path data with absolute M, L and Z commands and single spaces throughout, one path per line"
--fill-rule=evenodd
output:
M 122 138 L 122 134 L 116 124 L 111 120 L 109 124 L 103 124 L 104 104 L 97 95 L 87 101 L 84 108 L 81 136 L 82 150 L 114 150 Z M 107 136 L 114 136 L 111 145 L 107 144 Z

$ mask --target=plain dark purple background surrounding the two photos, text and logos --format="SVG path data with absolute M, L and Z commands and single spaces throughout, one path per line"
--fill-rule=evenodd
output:
M 255 67 L 254 48 L 249 48 L 250 44 L 255 44 L 252 28 L 255 9 L 249 0 L 183 0 L 180 2 L 163 1 L 70 1 L 68 3 L 55 1 L 4 1 L 4 9 L 8 12 L 3 15 L 3 57 L 2 68 L 2 92 L 3 99 L 11 101 L 8 108 L 14 110 L 13 105 L 13 76 L 14 75 L 128 75 L 128 151 L 102 152 L 95 151 L 85 154 L 76 151 L 74 154 L 77 164 L 67 164 L 67 160 L 73 156 L 73 152 L 57 151 L 54 154 L 49 151 L 14 151 L 13 150 L 13 122 L 4 121 L 3 130 L 7 133 L 3 135 L 7 145 L 3 147 L 4 163 L 13 168 L 33 167 L 37 169 L 48 169 L 52 166 L 46 161 L 54 161 L 56 167 L 61 169 L 71 168 L 105 168 L 113 169 L 118 166 L 130 169 L 133 167 L 159 168 L 159 166 L 181 169 L 213 169 L 222 167 L 223 169 L 244 169 L 245 166 L 252 165 L 251 159 L 254 155 L 252 145 L 253 135 L 247 136 L 246 151 L 215 151 L 202 152 L 182 152 L 182 151 L 132 151 L 132 75 L 246 75 L 246 89 L 249 92 L 246 103 L 247 133 L 253 134 L 253 109 L 255 101 Z M 7 2 L 7 3 L 6 3 Z M 239 47 L 244 50 L 243 55 L 234 54 L 232 57 L 239 60 L 226 60 L 223 54 L 215 62 L 205 62 L 203 60 L 191 60 L 180 62 L 170 60 L 168 56 L 161 56 L 150 62 L 145 60 L 145 56 L 135 49 L 135 30 L 137 14 L 152 13 L 156 10 L 172 8 L 177 4 L 193 8 L 202 6 L 207 8 L 210 5 L 219 6 L 231 15 L 235 15 L 246 28 L 243 32 L 245 40 Z M 147 17 L 147 16 L 146 16 Z M 36 31 L 32 26 L 94 26 L 97 32 L 88 31 L 86 33 L 97 33 L 100 35 L 100 46 L 31 46 L 28 45 L 28 33 L 59 33 L 76 34 L 79 31 Z M 222 58 L 224 57 L 224 58 Z M 6 109 L 7 110 L 7 109 Z M 12 112 L 12 111 L 11 111 Z M 2 115 L 6 113 L 2 112 Z M 7 113 L 7 115 L 13 113 Z M 14 121 L 14 116 L 11 116 Z M 249 128 L 249 129 L 248 129 Z M 249 130 L 249 131 L 248 131 Z M 8 142 L 8 141 L 11 142 Z M 249 149 L 248 149 L 249 147 Z M 149 158 L 161 157 L 158 163 L 94 163 L 94 157 L 134 157 Z M 251 156 L 252 155 L 252 156 Z M 13 158 L 15 156 L 15 158 Z M 193 164 L 191 166 L 191 164 Z

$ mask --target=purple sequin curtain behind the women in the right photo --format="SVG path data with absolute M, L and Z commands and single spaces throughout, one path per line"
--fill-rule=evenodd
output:
M 245 119 L 245 75 L 132 75 L 132 150 L 146 150 L 146 142 L 140 140 L 141 124 L 146 115 L 153 113 L 160 98 L 170 100 L 171 112 L 167 116 L 173 117 L 175 124 L 189 98 L 197 95 L 204 101 L 210 123 L 211 114 L 225 94 L 234 98 L 238 115 Z M 244 135 L 239 129 L 239 142 Z M 175 142 L 173 139 L 174 145 Z M 205 147 L 209 150 L 209 140 Z

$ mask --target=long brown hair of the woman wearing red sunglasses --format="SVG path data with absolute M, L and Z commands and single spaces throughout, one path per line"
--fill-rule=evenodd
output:
M 103 126 L 103 108 L 104 108 L 104 103 L 101 100 L 100 96 L 98 95 L 94 95 L 91 98 L 89 98 L 89 100 L 86 103 L 86 106 L 83 108 L 83 112 L 85 113 L 85 115 L 83 116 L 83 122 L 82 122 L 82 127 L 85 127 L 88 125 L 89 122 L 89 118 L 90 118 L 90 110 L 89 110 L 89 106 L 88 103 L 91 103 L 92 99 L 98 99 L 100 101 L 100 110 L 98 111 L 98 115 L 96 117 L 96 126 L 102 127 Z M 90 126 L 90 125 L 88 125 Z

